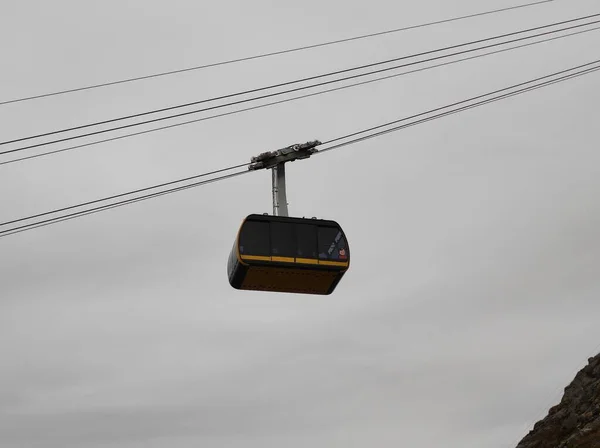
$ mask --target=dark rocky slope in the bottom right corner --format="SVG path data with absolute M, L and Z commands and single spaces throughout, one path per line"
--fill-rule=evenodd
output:
M 517 448 L 600 448 L 600 355 L 588 359 L 561 402 Z

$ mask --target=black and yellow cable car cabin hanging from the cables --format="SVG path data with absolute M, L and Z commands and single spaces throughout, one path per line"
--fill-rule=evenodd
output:
M 335 221 L 249 215 L 227 273 L 236 289 L 326 295 L 349 266 L 348 242 Z

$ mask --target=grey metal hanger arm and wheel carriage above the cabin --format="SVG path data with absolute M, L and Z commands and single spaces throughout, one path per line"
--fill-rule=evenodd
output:
M 285 189 L 285 164 L 296 160 L 308 159 L 316 153 L 321 142 L 311 142 L 291 145 L 277 151 L 268 151 L 252 157 L 249 170 L 270 169 L 273 194 L 273 215 L 288 216 L 288 202 Z

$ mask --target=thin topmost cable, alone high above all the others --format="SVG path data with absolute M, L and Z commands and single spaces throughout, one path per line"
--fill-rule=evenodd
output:
M 382 35 L 386 35 L 386 34 L 398 33 L 398 32 L 402 32 L 402 31 L 408 31 L 408 30 L 413 30 L 413 29 L 418 29 L 418 28 L 425 28 L 425 27 L 433 26 L 433 25 L 440 25 L 443 23 L 456 22 L 459 20 L 465 20 L 465 19 L 470 19 L 470 18 L 475 18 L 475 17 L 482 17 L 482 16 L 486 16 L 486 15 L 490 15 L 490 14 L 497 14 L 500 12 L 528 8 L 531 6 L 537 6 L 537 5 L 541 5 L 544 3 L 551 3 L 553 1 L 555 1 L 555 0 L 536 1 L 536 2 L 531 2 L 531 3 L 525 3 L 522 5 L 515 5 L 515 6 L 509 6 L 509 7 L 501 8 L 501 9 L 494 9 L 491 11 L 484 11 L 484 12 L 469 14 L 469 15 L 465 15 L 465 16 L 437 20 L 437 21 L 428 22 L 428 23 L 422 23 L 419 25 L 411 25 L 411 26 L 407 26 L 407 27 L 395 28 L 395 29 L 380 31 L 380 32 L 376 32 L 376 33 L 363 34 L 360 36 L 354 36 L 354 37 L 349 37 L 349 38 L 345 38 L 345 39 L 332 40 L 332 41 L 328 41 L 328 42 L 322 42 L 319 44 L 304 45 L 301 47 L 291 48 L 291 49 L 287 49 L 287 50 L 273 51 L 273 52 L 269 52 L 269 53 L 257 54 L 254 56 L 246 56 L 246 57 L 237 58 L 237 59 L 230 59 L 230 60 L 226 60 L 226 61 L 215 62 L 212 64 L 198 65 L 195 67 L 171 70 L 171 71 L 166 71 L 166 72 L 161 72 L 161 73 L 155 73 L 152 75 L 137 76 L 137 77 L 133 77 L 133 78 L 122 79 L 119 81 L 105 82 L 105 83 L 94 84 L 94 85 L 89 85 L 89 86 L 85 86 L 85 87 L 78 87 L 78 88 L 74 88 L 74 89 L 59 90 L 59 91 L 55 91 L 55 92 L 51 92 L 51 93 L 44 93 L 44 94 L 40 94 L 40 95 L 32 95 L 32 96 L 28 96 L 28 97 L 16 98 L 13 100 L 4 100 L 4 101 L 0 101 L 0 106 L 5 105 L 5 104 L 30 101 L 30 100 L 34 100 L 34 99 L 47 98 L 47 97 L 51 97 L 51 96 L 64 95 L 67 93 L 81 92 L 84 90 L 98 89 L 101 87 L 114 86 L 114 85 L 118 85 L 118 84 L 125 84 L 125 83 L 134 82 L 134 81 L 141 81 L 141 80 L 145 80 L 145 79 L 158 78 L 158 77 L 162 77 L 162 76 L 174 75 L 174 74 L 190 72 L 190 71 L 194 71 L 194 70 L 202 70 L 202 69 L 206 69 L 209 67 L 217 67 L 217 66 L 222 66 L 222 65 L 234 64 L 234 63 L 238 63 L 238 62 L 251 61 L 254 59 L 267 58 L 267 57 L 271 57 L 271 56 L 293 53 L 293 52 L 298 52 L 298 51 L 304 51 L 304 50 L 309 50 L 309 49 L 313 49 L 313 48 L 336 45 L 336 44 L 340 44 L 340 43 L 344 43 L 344 42 L 352 42 L 352 41 L 361 40 L 361 39 L 368 39 L 368 38 L 382 36 Z

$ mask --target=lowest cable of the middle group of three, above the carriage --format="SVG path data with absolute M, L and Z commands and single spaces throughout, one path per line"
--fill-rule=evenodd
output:
M 112 138 L 98 140 L 98 141 L 95 141 L 95 142 L 84 143 L 84 144 L 81 144 L 81 145 L 69 146 L 69 147 L 66 147 L 66 148 L 56 149 L 56 150 L 53 150 L 53 151 L 47 151 L 47 152 L 44 152 L 44 153 L 34 154 L 34 155 L 31 155 L 31 156 L 20 157 L 20 158 L 8 160 L 8 161 L 0 162 L 0 166 L 1 165 L 11 164 L 11 163 L 16 163 L 16 162 L 22 162 L 22 161 L 30 160 L 30 159 L 36 159 L 38 157 L 45 157 L 45 156 L 49 156 L 49 155 L 53 155 L 53 154 L 58 154 L 58 153 L 66 152 L 66 151 L 71 151 L 71 150 L 75 150 L 75 149 L 85 148 L 85 147 L 88 147 L 88 146 L 94 146 L 94 145 L 98 145 L 98 144 L 101 144 L 101 143 L 107 143 L 107 142 L 112 142 L 112 141 L 116 141 L 116 140 L 121 140 L 121 139 L 124 139 L 124 138 L 133 137 L 133 136 L 149 134 L 149 133 L 156 132 L 156 131 L 161 131 L 161 130 L 176 128 L 176 127 L 179 127 L 179 126 L 185 126 L 185 125 L 188 125 L 188 124 L 198 123 L 198 122 L 201 122 L 201 121 L 211 120 L 211 119 L 214 119 L 214 118 L 219 118 L 219 117 L 224 117 L 224 116 L 229 116 L 229 115 L 235 115 L 235 114 L 239 114 L 239 113 L 247 112 L 247 111 L 251 111 L 251 110 L 256 110 L 256 109 L 262 109 L 262 108 L 274 106 L 274 105 L 277 105 L 277 104 L 288 103 L 288 102 L 296 101 L 296 100 L 303 99 L 303 98 L 309 98 L 309 97 L 313 97 L 313 96 L 323 95 L 323 94 L 326 94 L 326 93 L 335 92 L 335 91 L 339 91 L 339 90 L 344 90 L 344 89 L 348 89 L 348 88 L 353 88 L 353 87 L 356 87 L 356 86 L 370 84 L 370 83 L 374 83 L 374 82 L 379 82 L 379 81 L 383 81 L 383 80 L 386 80 L 386 79 L 397 78 L 397 77 L 400 77 L 400 76 L 409 75 L 409 74 L 412 74 L 412 73 L 418 73 L 418 72 L 430 70 L 430 69 L 433 69 L 433 68 L 449 66 L 449 65 L 457 64 L 457 63 L 468 61 L 468 60 L 472 60 L 472 59 L 479 59 L 479 58 L 482 58 L 482 57 L 485 57 L 485 56 L 490 56 L 490 55 L 493 55 L 493 54 L 504 53 L 504 52 L 516 50 L 516 49 L 519 49 L 519 48 L 525 48 L 525 47 L 529 47 L 529 46 L 541 44 L 541 43 L 544 43 L 544 42 L 550 42 L 550 41 L 554 41 L 554 40 L 558 40 L 558 39 L 564 39 L 564 38 L 567 38 L 567 37 L 576 36 L 576 35 L 584 34 L 584 33 L 589 33 L 589 32 L 597 31 L 597 30 L 600 30 L 600 27 L 595 27 L 595 28 L 591 28 L 591 29 L 583 30 L 583 31 L 577 31 L 577 32 L 565 34 L 565 35 L 562 35 L 562 36 L 546 38 L 546 39 L 542 39 L 542 40 L 539 40 L 539 41 L 530 42 L 530 43 L 526 43 L 526 44 L 515 45 L 515 46 L 509 47 L 509 48 L 504 48 L 502 50 L 490 51 L 490 52 L 487 52 L 487 53 L 484 53 L 484 54 L 480 54 L 480 55 L 476 55 L 476 56 L 470 56 L 470 57 L 466 57 L 466 58 L 462 58 L 462 59 L 457 59 L 455 61 L 450 61 L 450 62 L 444 62 L 444 63 L 440 63 L 440 64 L 435 64 L 435 65 L 427 66 L 427 67 L 424 67 L 424 68 L 419 68 L 419 69 L 410 70 L 410 71 L 406 71 L 406 72 L 402 72 L 402 73 L 388 75 L 388 76 L 384 76 L 384 77 L 380 77 L 380 78 L 376 78 L 376 79 L 370 79 L 370 80 L 367 80 L 367 81 L 360 81 L 360 82 L 357 82 L 357 83 L 348 84 L 348 85 L 341 86 L 341 87 L 335 87 L 335 88 L 332 88 L 332 89 L 322 90 L 322 91 L 319 91 L 319 92 L 309 93 L 309 94 L 306 94 L 306 95 L 300 95 L 300 96 L 296 96 L 296 97 L 292 97 L 292 98 L 287 98 L 287 99 L 284 99 L 284 100 L 279 100 L 279 101 L 274 101 L 274 102 L 270 102 L 270 103 L 266 103 L 266 104 L 261 104 L 261 105 L 258 105 L 258 106 L 252 106 L 252 107 L 248 107 L 248 108 L 244 108 L 244 109 L 238 109 L 238 110 L 234 110 L 234 111 L 231 111 L 231 112 L 225 112 L 225 113 L 221 113 L 221 114 L 217 114 L 217 115 L 211 115 L 211 116 L 208 116 L 208 117 L 203 117 L 203 118 L 198 118 L 198 119 L 194 119 L 194 120 L 184 121 L 184 122 L 181 122 L 181 123 L 175 123 L 175 124 L 168 125 L 168 126 L 161 126 L 161 127 L 158 127 L 158 128 L 148 129 L 148 130 L 145 130 L 145 131 L 135 132 L 135 133 L 131 133 L 131 134 L 125 134 L 125 135 L 121 135 L 121 136 L 118 136 L 118 137 L 112 137 Z

